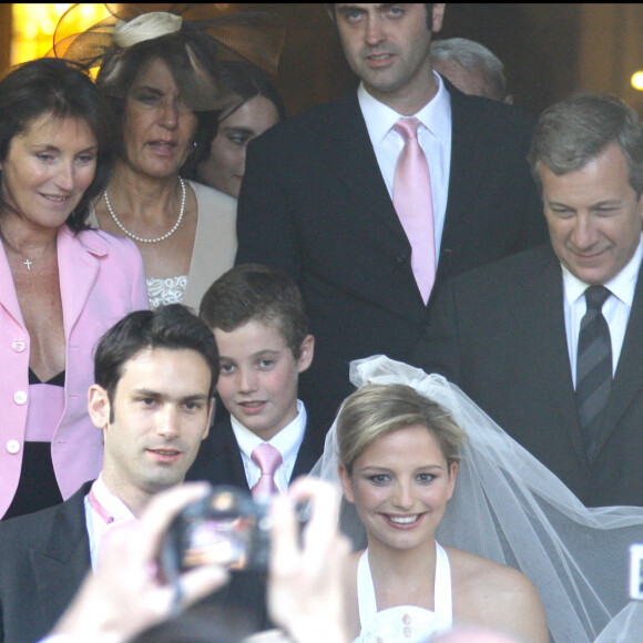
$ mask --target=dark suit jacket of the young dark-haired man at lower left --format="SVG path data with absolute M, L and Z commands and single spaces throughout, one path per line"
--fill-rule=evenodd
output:
M 0 522 L 0 643 L 44 637 L 91 570 L 84 512 L 90 487 L 62 504 Z M 248 632 L 267 623 L 265 580 L 254 573 L 234 574 L 197 609 L 206 604 L 213 618 L 242 613 Z

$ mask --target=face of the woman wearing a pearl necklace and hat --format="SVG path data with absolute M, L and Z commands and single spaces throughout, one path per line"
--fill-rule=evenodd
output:
M 196 124 L 196 115 L 184 103 L 167 65 L 156 58 L 150 60 L 125 102 L 125 163 L 146 176 L 178 174 L 192 150 Z

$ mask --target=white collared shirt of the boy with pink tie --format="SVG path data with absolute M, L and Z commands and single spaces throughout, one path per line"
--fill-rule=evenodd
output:
M 262 470 L 252 461 L 251 456 L 255 447 L 263 445 L 265 440 L 262 440 L 257 435 L 246 429 L 234 416 L 231 416 L 229 419 L 232 430 L 234 431 L 242 453 L 246 480 L 248 481 L 248 487 L 252 489 L 257 483 Z M 295 468 L 297 453 L 304 440 L 306 420 L 306 407 L 302 400 L 297 400 L 297 417 L 274 436 L 272 440 L 268 440 L 268 445 L 275 447 L 282 453 L 283 462 L 275 472 L 275 484 L 279 493 L 286 493 L 288 490 L 288 482 Z

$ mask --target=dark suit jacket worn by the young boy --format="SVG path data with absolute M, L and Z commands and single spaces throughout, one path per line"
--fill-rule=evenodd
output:
M 317 461 L 316 453 L 310 448 L 312 440 L 313 433 L 306 429 L 290 481 L 308 473 Z M 211 484 L 232 484 L 249 491 L 242 455 L 232 430 L 229 414 L 223 404 L 217 405 L 214 425 L 201 445 L 198 456 L 187 471 L 186 480 L 207 480 Z

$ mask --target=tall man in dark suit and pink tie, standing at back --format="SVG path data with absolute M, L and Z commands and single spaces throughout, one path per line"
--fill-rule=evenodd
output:
M 236 263 L 257 262 L 297 280 L 315 335 L 300 380 L 322 451 L 350 360 L 408 360 L 443 280 L 547 239 L 525 162 L 534 119 L 468 96 L 431 70 L 443 4 L 329 4 L 357 91 L 275 125 L 248 146 L 238 203 Z M 432 241 L 411 252 L 394 207 L 405 146 L 395 126 L 420 122 Z M 421 205 L 421 204 L 420 204 Z M 427 300 L 414 263 L 435 255 Z

